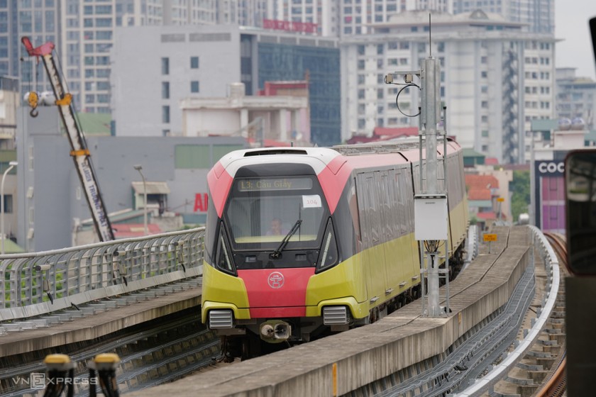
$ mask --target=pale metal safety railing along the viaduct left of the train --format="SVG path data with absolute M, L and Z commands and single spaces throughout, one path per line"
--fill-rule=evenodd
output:
M 202 274 L 205 228 L 0 256 L 0 321 Z

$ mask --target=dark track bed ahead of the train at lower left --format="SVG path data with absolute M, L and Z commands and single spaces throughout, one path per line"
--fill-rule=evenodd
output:
M 180 379 L 188 374 L 222 365 L 214 359 L 219 354 L 219 337 L 206 330 L 196 309 L 167 318 L 126 328 L 109 337 L 85 344 L 67 345 L 65 354 L 76 362 L 75 395 L 89 396 L 87 362 L 96 354 L 115 352 L 121 359 L 116 379 L 121 393 Z M 39 396 L 40 390 L 27 384 L 31 373 L 45 374 L 43 357 L 6 363 L 0 370 L 1 396 Z

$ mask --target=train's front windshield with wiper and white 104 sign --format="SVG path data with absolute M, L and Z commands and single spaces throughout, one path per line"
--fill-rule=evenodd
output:
M 225 211 L 234 251 L 309 250 L 321 245 L 326 201 L 314 176 L 238 178 Z M 290 233 L 292 232 L 292 233 Z

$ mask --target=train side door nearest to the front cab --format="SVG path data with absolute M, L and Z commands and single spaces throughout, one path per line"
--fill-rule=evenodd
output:
M 382 247 L 380 246 L 379 188 L 375 173 L 358 174 L 356 194 L 360 204 L 360 229 L 363 240 L 363 267 L 366 289 L 370 303 L 385 296 L 385 272 L 383 271 Z

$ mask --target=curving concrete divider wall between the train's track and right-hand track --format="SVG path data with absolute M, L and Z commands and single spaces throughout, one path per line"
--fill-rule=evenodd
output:
M 509 300 L 531 261 L 529 229 L 497 228 L 491 253 L 480 255 L 450 284 L 452 313 L 421 317 L 416 301 L 372 325 L 289 350 L 188 376 L 131 396 L 339 396 L 409 367 L 441 361 L 458 338 Z M 410 369 L 412 369 L 410 368 Z

